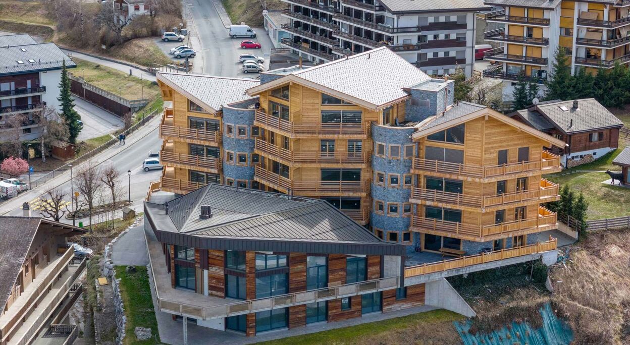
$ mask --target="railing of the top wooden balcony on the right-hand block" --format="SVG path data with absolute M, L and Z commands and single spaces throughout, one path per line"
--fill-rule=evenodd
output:
M 413 160 L 412 169 L 420 171 L 432 171 L 434 173 L 446 173 L 471 178 L 493 178 L 510 174 L 527 173 L 528 171 L 559 169 L 560 158 L 547 151 L 542 151 L 540 161 L 523 161 L 497 166 L 473 166 L 467 164 L 435 161 L 432 159 L 416 158 Z

